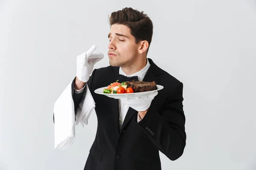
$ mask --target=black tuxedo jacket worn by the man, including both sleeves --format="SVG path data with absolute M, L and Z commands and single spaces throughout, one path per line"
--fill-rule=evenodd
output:
M 119 67 L 93 70 L 87 85 L 96 102 L 98 127 L 84 170 L 161 170 L 159 150 L 170 160 L 183 154 L 186 145 L 183 84 L 148 60 L 151 66 L 143 81 L 154 80 L 164 88 L 158 91 L 139 123 L 138 112 L 129 108 L 121 130 L 118 99 L 94 93 L 97 88 L 116 82 Z M 73 91 L 75 110 L 83 93 Z

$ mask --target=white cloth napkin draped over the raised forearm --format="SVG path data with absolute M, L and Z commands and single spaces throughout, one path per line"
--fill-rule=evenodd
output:
M 75 140 L 75 109 L 72 98 L 72 82 L 65 88 L 54 104 L 54 135 L 55 149 L 67 150 Z M 84 127 L 95 108 L 95 102 L 86 84 L 86 92 L 83 95 L 76 113 L 76 125 Z

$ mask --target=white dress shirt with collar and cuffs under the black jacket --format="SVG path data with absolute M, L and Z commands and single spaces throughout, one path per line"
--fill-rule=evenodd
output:
M 149 67 L 150 67 L 150 63 L 148 62 L 148 59 L 147 59 L 147 64 L 145 65 L 145 67 L 142 70 L 138 71 L 137 73 L 134 73 L 132 75 L 127 75 L 122 71 L 122 68 L 120 67 L 119 68 L 119 74 L 122 74 L 122 75 L 127 76 L 127 77 L 137 76 L 138 80 L 142 81 L 143 78 L 145 77 L 145 74 L 147 73 Z M 86 86 L 84 86 L 84 87 L 86 87 Z M 82 93 L 84 91 L 84 87 L 80 90 L 75 90 L 75 93 L 76 94 Z M 90 93 L 90 91 L 87 90 L 86 93 Z M 126 113 L 127 113 L 128 109 L 129 109 L 129 106 L 125 105 L 120 99 L 118 99 L 118 103 L 119 103 L 119 128 L 121 129 L 122 123 L 124 122 L 124 119 L 125 119 L 125 116 L 126 116 Z M 139 114 L 138 114 L 137 122 L 140 122 L 140 120 L 141 119 L 140 119 Z

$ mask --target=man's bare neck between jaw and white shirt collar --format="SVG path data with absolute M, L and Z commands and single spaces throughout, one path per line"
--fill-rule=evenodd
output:
M 143 57 L 140 61 L 133 62 L 133 64 L 125 67 L 121 67 L 122 71 L 127 74 L 131 75 L 141 71 L 147 65 L 147 58 Z

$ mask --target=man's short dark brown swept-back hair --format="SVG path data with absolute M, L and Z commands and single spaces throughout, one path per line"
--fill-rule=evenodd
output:
M 131 35 L 135 37 L 136 43 L 141 40 L 148 41 L 148 48 L 153 35 L 153 23 L 147 14 L 133 8 L 123 8 L 111 13 L 109 24 L 122 24 L 130 28 Z

